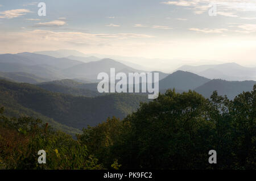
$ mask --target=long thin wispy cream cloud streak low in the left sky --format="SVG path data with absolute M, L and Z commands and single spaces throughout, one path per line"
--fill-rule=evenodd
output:
M 154 36 L 139 34 L 139 33 L 84 33 L 84 32 L 62 32 L 62 31 L 48 31 L 48 30 L 33 30 L 25 32 L 6 32 L 4 35 L 0 35 L 0 41 L 11 41 L 15 40 L 20 44 L 25 41 L 27 45 L 31 47 L 31 44 L 36 42 L 42 42 L 44 45 L 49 44 L 80 44 L 80 45 L 98 45 L 98 44 L 109 44 L 113 41 L 122 41 L 130 39 L 148 39 Z M 34 42 L 34 43 L 33 43 Z M 1 44 L 0 44 L 1 47 Z

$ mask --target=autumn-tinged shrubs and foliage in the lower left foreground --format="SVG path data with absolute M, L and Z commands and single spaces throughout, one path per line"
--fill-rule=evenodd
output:
M 0 116 L 1 169 L 103 169 L 85 145 L 38 119 Z M 38 151 L 46 151 L 46 164 Z

